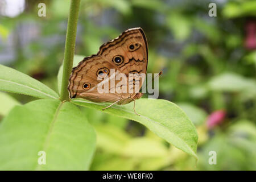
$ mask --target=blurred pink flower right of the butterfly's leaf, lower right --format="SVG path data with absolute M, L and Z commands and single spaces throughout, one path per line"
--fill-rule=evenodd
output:
M 226 112 L 224 110 L 216 110 L 211 113 L 207 118 L 207 127 L 212 129 L 214 126 L 219 125 L 224 121 Z

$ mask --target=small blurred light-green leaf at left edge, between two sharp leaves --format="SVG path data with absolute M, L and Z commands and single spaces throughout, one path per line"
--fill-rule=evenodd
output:
M 16 105 L 20 105 L 20 103 L 9 94 L 0 92 L 0 115 L 5 116 Z

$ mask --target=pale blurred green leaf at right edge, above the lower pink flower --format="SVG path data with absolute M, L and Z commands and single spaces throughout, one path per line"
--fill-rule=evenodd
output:
M 209 88 L 212 90 L 226 92 L 240 92 L 248 90 L 256 90 L 256 82 L 249 78 L 244 78 L 236 73 L 222 73 L 213 77 L 208 82 Z

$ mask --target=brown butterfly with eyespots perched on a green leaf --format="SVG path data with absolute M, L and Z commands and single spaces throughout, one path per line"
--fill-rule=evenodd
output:
M 108 107 L 134 101 L 134 112 L 136 113 L 135 100 L 141 98 L 143 93 L 129 92 L 129 89 L 135 90 L 135 86 L 141 89 L 144 77 L 139 77 L 139 74 L 146 74 L 147 61 L 147 39 L 142 28 L 130 28 L 117 38 L 103 44 L 96 55 L 85 57 L 77 67 L 73 68 L 69 78 L 69 96 L 85 98 L 93 102 L 113 102 Z M 111 69 L 116 72 L 112 74 Z M 118 85 L 117 73 L 123 73 L 126 76 L 124 81 L 127 84 Z M 129 73 L 135 75 L 133 80 L 130 79 Z M 108 88 L 108 93 L 98 91 L 99 84 L 104 82 L 99 78 L 108 78 L 108 84 L 105 85 Z M 110 84 L 111 80 L 114 80 L 116 85 L 114 88 Z M 117 87 L 127 92 L 118 93 L 115 90 Z

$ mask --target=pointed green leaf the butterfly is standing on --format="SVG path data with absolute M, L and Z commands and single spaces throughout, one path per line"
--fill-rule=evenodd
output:
M 97 110 L 102 110 L 109 105 L 82 99 L 74 99 L 72 103 Z M 114 105 L 104 110 L 104 113 L 142 123 L 159 137 L 197 158 L 196 147 L 198 137 L 195 126 L 177 105 L 166 100 L 142 98 L 136 101 L 136 110 L 141 116 L 134 113 L 133 103 Z

